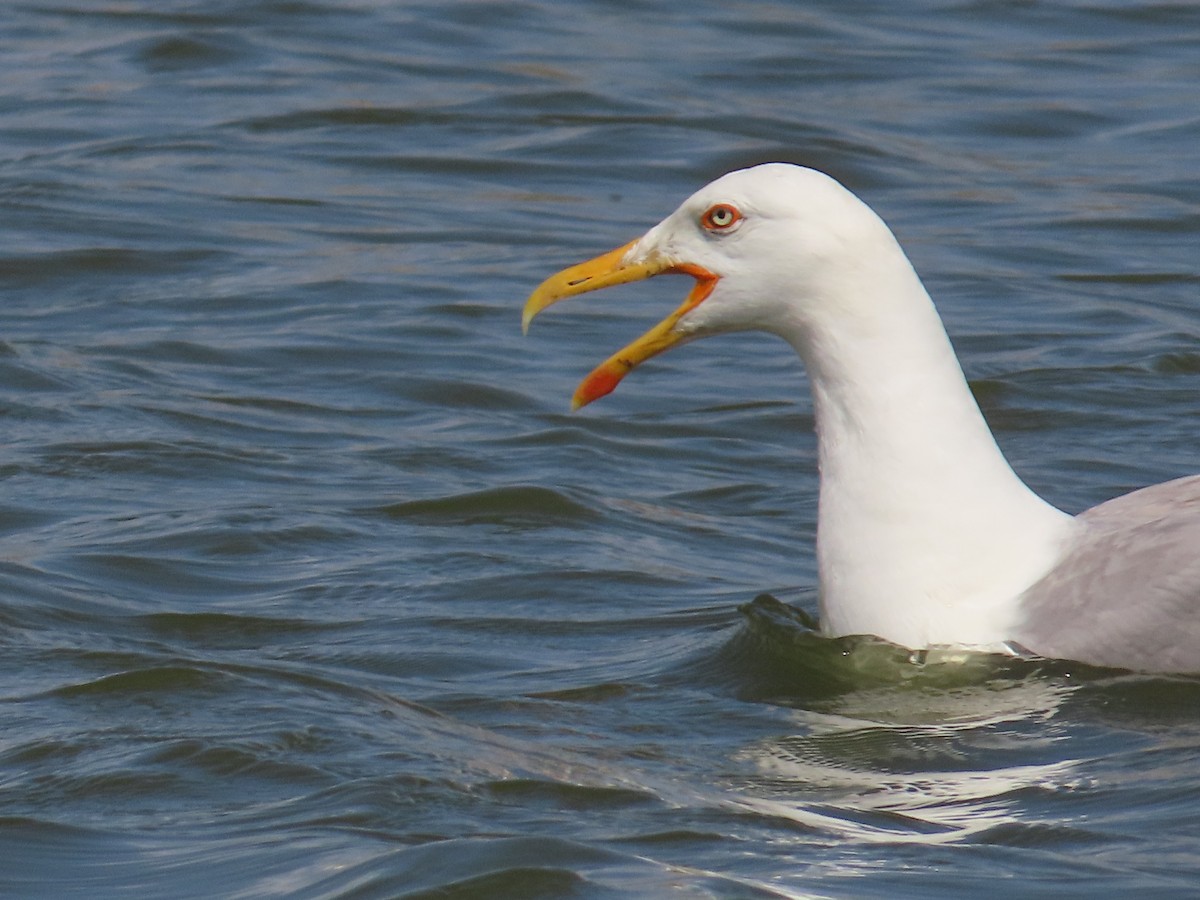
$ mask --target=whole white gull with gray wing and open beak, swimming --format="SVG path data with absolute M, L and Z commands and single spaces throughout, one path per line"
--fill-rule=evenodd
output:
M 1200 476 L 1074 517 L 1037 497 L 892 232 L 836 181 L 782 163 L 730 173 L 641 239 L 548 278 L 526 324 L 660 272 L 696 287 L 576 404 L 676 343 L 746 329 L 786 340 L 816 414 L 824 632 L 1200 671 Z

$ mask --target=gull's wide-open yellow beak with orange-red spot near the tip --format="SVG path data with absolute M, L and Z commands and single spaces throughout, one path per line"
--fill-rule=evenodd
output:
M 589 290 L 608 288 L 613 284 L 628 284 L 631 281 L 652 278 L 655 275 L 678 274 L 690 275 L 696 280 L 696 284 L 688 294 L 678 310 L 667 316 L 662 322 L 638 337 L 623 350 L 614 353 L 601 362 L 592 374 L 584 378 L 571 398 L 571 409 L 578 409 L 590 403 L 593 400 L 610 394 L 618 382 L 624 378 L 635 366 L 644 362 L 650 356 L 656 356 L 664 350 L 685 340 L 685 335 L 676 330 L 676 324 L 690 310 L 698 306 L 704 298 L 713 293 L 720 276 L 690 263 L 676 263 L 659 254 L 649 256 L 626 262 L 626 257 L 634 254 L 637 241 L 617 247 L 595 259 L 572 265 L 564 269 L 558 275 L 551 275 L 538 286 L 526 301 L 524 312 L 521 317 L 521 328 L 529 330 L 533 318 L 551 304 L 565 300 L 569 296 L 586 294 Z

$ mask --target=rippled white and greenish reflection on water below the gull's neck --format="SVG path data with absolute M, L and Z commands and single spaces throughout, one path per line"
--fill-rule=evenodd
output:
M 928 844 L 1034 824 L 1020 792 L 1079 788 L 1055 722 L 1076 690 L 1069 674 L 983 654 L 917 664 L 883 642 L 821 638 L 787 610 L 758 598 L 744 610 L 739 640 L 760 653 L 790 648 L 757 656 L 760 668 L 811 668 L 803 696 L 780 695 L 776 683 L 770 697 L 792 707 L 804 730 L 737 755 L 754 767 L 737 786 L 739 804 L 846 838 Z M 839 689 L 823 694 L 816 679 Z

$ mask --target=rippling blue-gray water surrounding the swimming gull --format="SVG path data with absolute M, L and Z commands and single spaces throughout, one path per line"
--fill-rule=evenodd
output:
M 518 323 L 803 162 L 1038 491 L 1198 472 L 1200 7 L 61 0 L 0 47 L 0 894 L 1194 894 L 1200 683 L 814 638 L 790 350 L 571 415 L 686 286 Z

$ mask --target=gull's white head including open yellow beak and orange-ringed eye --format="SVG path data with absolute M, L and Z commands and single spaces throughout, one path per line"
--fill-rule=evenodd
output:
M 584 379 L 580 407 L 697 337 L 758 329 L 794 340 L 824 317 L 865 323 L 854 306 L 874 292 L 850 288 L 896 258 L 904 253 L 887 226 L 834 179 L 767 163 L 722 175 L 637 240 L 547 278 L 526 304 L 524 325 L 568 296 L 668 272 L 696 280 L 679 308 Z

